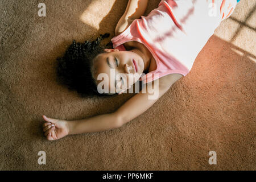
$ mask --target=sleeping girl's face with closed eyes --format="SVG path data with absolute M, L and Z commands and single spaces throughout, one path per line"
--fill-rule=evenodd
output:
M 109 93 L 112 89 L 115 93 L 121 94 L 139 80 L 144 71 L 144 61 L 133 51 L 119 51 L 118 49 L 105 49 L 104 51 L 106 53 L 101 53 L 94 61 L 95 80 L 98 85 L 102 81 L 97 80 L 98 75 L 106 73 L 109 78 Z M 112 71 L 111 75 L 110 71 Z

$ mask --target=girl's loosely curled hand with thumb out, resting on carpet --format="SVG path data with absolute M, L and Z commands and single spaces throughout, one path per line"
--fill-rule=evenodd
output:
M 68 121 L 48 118 L 45 115 L 43 119 L 46 121 L 43 123 L 43 131 L 47 140 L 57 140 L 69 134 Z

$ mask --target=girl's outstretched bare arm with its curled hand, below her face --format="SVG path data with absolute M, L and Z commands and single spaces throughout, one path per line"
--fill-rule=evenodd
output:
M 146 85 L 138 94 L 126 101 L 125 104 L 114 113 L 97 115 L 95 117 L 75 121 L 52 119 L 43 116 L 44 120 L 46 120 L 43 124 L 45 135 L 48 140 L 56 140 L 68 134 L 105 131 L 121 127 L 144 113 L 144 111 L 159 100 L 170 86 L 181 77 L 182 76 L 179 74 L 164 76 L 159 78 L 158 85 L 153 81 L 152 88 L 154 88 L 155 92 L 158 92 L 154 100 L 148 99 L 148 96 L 152 95 L 152 90 L 148 90 Z

